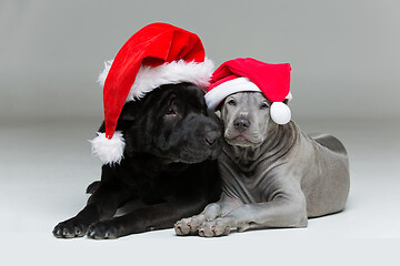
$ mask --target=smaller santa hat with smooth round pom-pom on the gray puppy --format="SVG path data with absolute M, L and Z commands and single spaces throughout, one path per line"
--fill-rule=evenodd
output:
M 290 64 L 271 64 L 256 59 L 233 59 L 221 64 L 213 73 L 211 85 L 207 89 L 206 103 L 217 110 L 230 94 L 237 92 L 262 92 L 272 103 L 270 114 L 277 124 L 286 124 L 291 119 Z

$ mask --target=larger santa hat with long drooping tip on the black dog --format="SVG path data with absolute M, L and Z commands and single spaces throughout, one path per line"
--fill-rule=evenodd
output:
M 124 139 L 116 127 L 126 102 L 139 100 L 163 84 L 189 82 L 206 89 L 213 63 L 204 54 L 197 34 L 171 24 L 152 23 L 134 33 L 99 76 L 106 133 L 98 133 L 91 141 L 92 153 L 103 164 L 121 161 Z

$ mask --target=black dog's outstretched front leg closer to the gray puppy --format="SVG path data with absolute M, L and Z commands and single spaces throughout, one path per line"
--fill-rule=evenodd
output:
M 129 234 L 171 228 L 178 219 L 199 213 L 206 204 L 206 198 L 193 197 L 149 205 L 127 215 L 92 224 L 88 236 L 99 239 L 117 238 Z

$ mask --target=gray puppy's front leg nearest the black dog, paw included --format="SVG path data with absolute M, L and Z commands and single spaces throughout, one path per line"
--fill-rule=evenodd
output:
M 228 197 L 222 194 L 221 200 L 217 203 L 211 203 L 206 206 L 204 211 L 200 214 L 189 218 L 182 218 L 174 224 L 174 231 L 177 235 L 189 235 L 198 231 L 201 224 L 210 221 L 214 221 L 218 217 L 227 215 L 233 209 L 241 206 L 242 203 Z

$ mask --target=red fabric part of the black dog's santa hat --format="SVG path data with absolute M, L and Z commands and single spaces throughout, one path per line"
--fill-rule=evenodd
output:
M 111 139 L 118 117 L 140 65 L 157 66 L 178 60 L 203 62 L 200 38 L 167 23 L 149 24 L 134 33 L 119 50 L 103 89 L 106 136 Z

